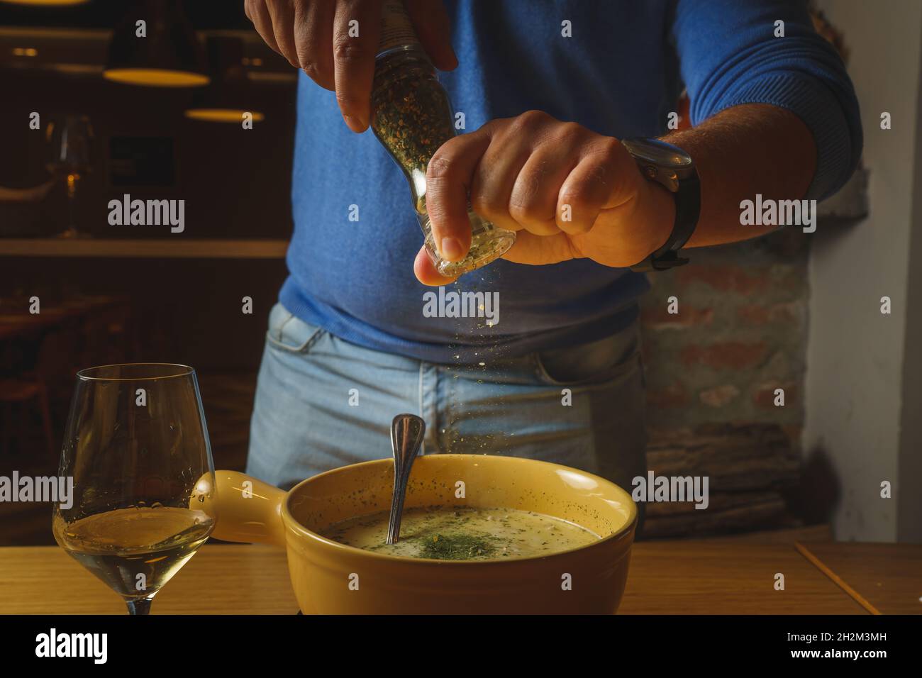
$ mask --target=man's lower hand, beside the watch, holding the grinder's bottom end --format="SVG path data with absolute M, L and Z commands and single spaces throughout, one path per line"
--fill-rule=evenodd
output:
M 429 162 L 426 208 L 440 254 L 467 255 L 467 196 L 481 217 L 517 232 L 503 258 L 555 264 L 590 258 L 610 267 L 642 261 L 666 243 L 675 206 L 641 174 L 618 139 L 547 113 L 493 120 L 446 141 Z M 420 249 L 414 266 L 427 285 L 444 278 Z

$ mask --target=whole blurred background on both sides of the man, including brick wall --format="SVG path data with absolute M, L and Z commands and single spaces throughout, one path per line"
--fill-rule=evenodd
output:
M 55 474 L 76 371 L 138 361 L 195 366 L 216 467 L 242 470 L 286 275 L 297 82 L 242 5 L 0 0 L 0 476 Z M 910 486 L 922 478 L 922 274 L 909 266 L 922 256 L 922 4 L 812 10 L 855 81 L 863 166 L 822 204 L 816 233 L 698 251 L 652 277 L 650 467 L 708 475 L 711 497 L 706 511 L 648 506 L 650 538 L 922 541 Z M 139 16 L 144 54 L 123 40 Z M 254 114 L 244 134 L 242 111 Z M 184 198 L 194 232 L 110 226 L 124 194 Z M 0 545 L 43 543 L 47 505 L 0 503 Z

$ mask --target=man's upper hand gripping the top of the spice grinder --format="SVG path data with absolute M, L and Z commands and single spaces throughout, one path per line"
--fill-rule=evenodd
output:
M 420 44 L 440 70 L 457 65 L 448 16 L 441 1 L 405 0 Z M 314 82 L 335 90 L 339 110 L 353 132 L 363 132 L 374 54 L 381 34 L 382 0 L 244 0 L 243 9 L 266 44 Z M 349 22 L 358 21 L 358 36 Z M 355 31 L 353 30 L 353 33 Z

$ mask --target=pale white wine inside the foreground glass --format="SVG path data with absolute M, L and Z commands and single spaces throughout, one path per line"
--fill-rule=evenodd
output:
M 65 523 L 54 539 L 125 599 L 151 598 L 214 529 L 204 511 L 171 506 L 119 508 Z

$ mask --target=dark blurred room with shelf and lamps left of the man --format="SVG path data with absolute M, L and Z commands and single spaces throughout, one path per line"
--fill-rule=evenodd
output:
M 0 186 L 53 182 L 0 201 L 0 475 L 55 473 L 76 370 L 136 361 L 195 366 L 215 463 L 242 469 L 266 315 L 286 275 L 297 84 L 242 7 L 0 2 Z M 118 54 L 114 37 L 133 35 L 137 17 L 148 42 L 188 63 Z M 210 84 L 104 77 L 118 59 Z M 203 109 L 234 122 L 190 117 Z M 239 110 L 254 113 L 252 130 L 242 133 Z M 71 149 L 48 134 L 54 125 Z M 195 227 L 110 226 L 108 202 L 124 194 L 185 198 Z M 77 236 L 60 237 L 71 220 Z M 253 315 L 241 313 L 244 296 Z M 53 543 L 47 508 L 0 504 L 0 544 Z

